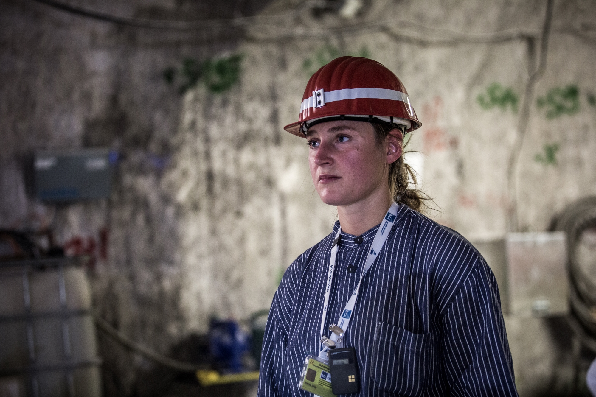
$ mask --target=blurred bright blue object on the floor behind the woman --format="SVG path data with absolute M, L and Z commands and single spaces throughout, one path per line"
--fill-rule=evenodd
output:
M 237 322 L 211 320 L 209 343 L 216 367 L 230 372 L 243 369 L 242 357 L 250 349 L 250 336 Z

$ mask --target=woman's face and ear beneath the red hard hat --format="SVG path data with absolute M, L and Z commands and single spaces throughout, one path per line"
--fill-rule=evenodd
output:
M 347 206 L 378 190 L 388 191 L 389 164 L 397 156 L 395 139 L 378 144 L 370 123 L 330 121 L 312 126 L 306 135 L 309 165 L 316 192 L 325 204 Z M 394 158 L 395 157 L 395 158 Z

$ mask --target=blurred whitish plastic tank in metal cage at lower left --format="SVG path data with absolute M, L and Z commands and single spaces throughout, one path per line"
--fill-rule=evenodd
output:
M 78 262 L 0 263 L 0 395 L 100 397 L 91 289 Z

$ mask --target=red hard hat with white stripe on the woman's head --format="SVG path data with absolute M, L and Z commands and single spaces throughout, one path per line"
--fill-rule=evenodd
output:
M 406 132 L 422 125 L 398 77 L 360 57 L 340 57 L 317 70 L 306 85 L 298 121 L 284 129 L 304 138 L 311 126 L 331 120 L 399 125 Z

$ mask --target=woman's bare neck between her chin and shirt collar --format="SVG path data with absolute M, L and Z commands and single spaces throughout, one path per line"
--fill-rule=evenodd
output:
M 363 200 L 345 206 L 337 206 L 337 215 L 342 231 L 361 235 L 383 221 L 393 203 L 389 189 L 373 194 Z

